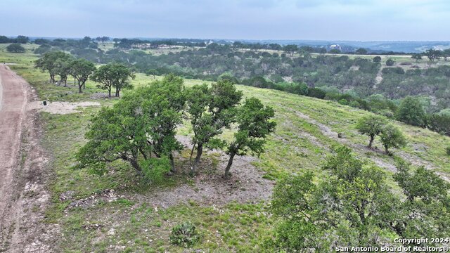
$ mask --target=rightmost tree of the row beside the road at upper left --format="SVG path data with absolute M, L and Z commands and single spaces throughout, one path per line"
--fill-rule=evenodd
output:
M 90 77 L 92 81 L 101 83 L 101 85 L 98 85 L 98 88 L 107 90 L 109 97 L 111 97 L 113 87 L 115 88 L 116 97 L 120 96 L 120 90 L 122 89 L 133 89 L 129 78 L 134 79 L 134 74 L 131 73 L 128 67 L 120 63 L 109 63 L 98 67 Z

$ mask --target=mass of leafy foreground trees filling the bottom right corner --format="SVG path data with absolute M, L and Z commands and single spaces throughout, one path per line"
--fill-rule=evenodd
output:
M 278 222 L 270 245 L 288 252 L 333 252 L 333 245 L 380 247 L 391 238 L 445 238 L 450 184 L 424 167 L 414 174 L 404 162 L 398 168 L 394 179 L 405 201 L 392 193 L 380 168 L 345 147 L 327 159 L 322 169 L 331 176 L 319 183 L 311 172 L 286 177 L 274 190 L 271 209 Z

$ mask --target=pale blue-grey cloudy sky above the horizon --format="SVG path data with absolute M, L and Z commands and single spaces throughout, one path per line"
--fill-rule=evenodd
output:
M 0 34 L 450 41 L 449 0 L 0 0 Z

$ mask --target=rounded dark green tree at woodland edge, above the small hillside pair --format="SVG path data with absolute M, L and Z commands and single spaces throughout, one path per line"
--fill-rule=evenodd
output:
M 425 125 L 425 110 L 423 110 L 422 103 L 411 96 L 401 100 L 395 117 L 397 120 L 413 126 Z

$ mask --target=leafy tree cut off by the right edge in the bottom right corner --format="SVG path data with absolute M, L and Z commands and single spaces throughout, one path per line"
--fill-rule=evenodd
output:
M 411 173 L 411 164 L 399 161 L 397 181 L 406 201 L 392 225 L 402 238 L 439 238 L 450 233 L 450 184 L 434 171 L 421 166 Z

